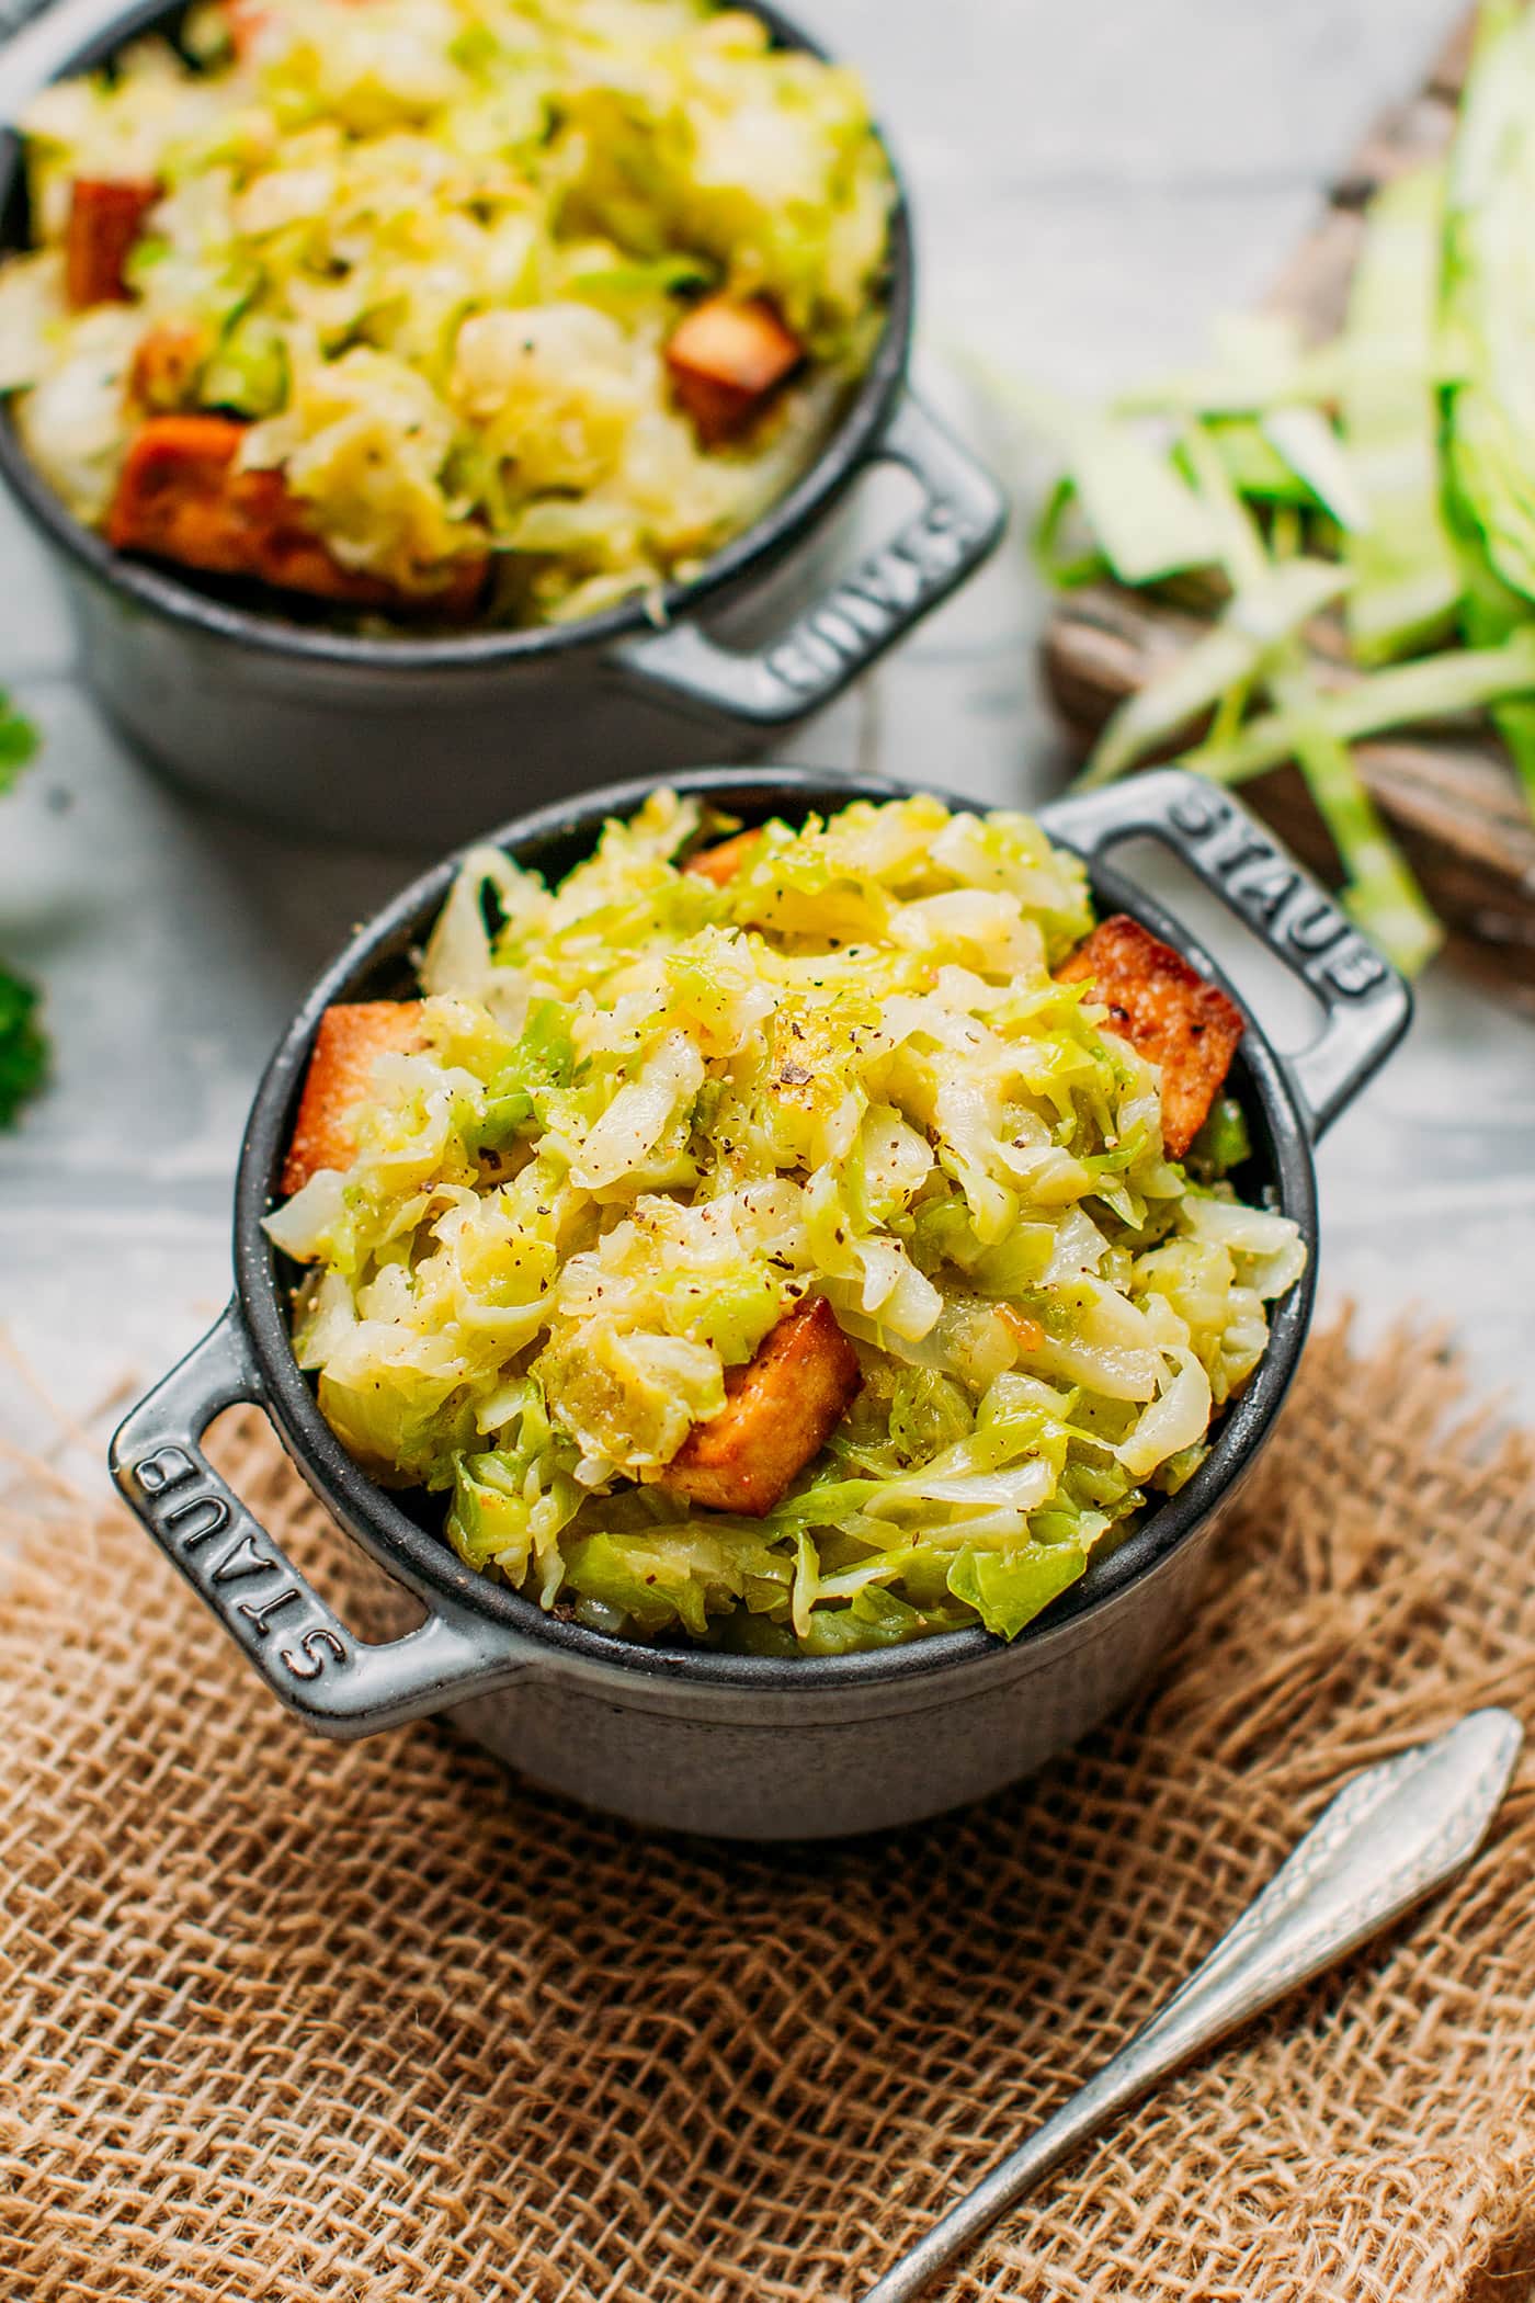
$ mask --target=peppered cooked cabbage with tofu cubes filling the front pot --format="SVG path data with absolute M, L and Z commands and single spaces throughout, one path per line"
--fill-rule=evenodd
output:
M 1240 1029 L 1024 815 L 658 792 L 559 887 L 476 850 L 419 997 L 322 1016 L 297 1359 L 591 1628 L 1013 1637 L 1192 1476 L 1305 1267 L 1231 1181 Z

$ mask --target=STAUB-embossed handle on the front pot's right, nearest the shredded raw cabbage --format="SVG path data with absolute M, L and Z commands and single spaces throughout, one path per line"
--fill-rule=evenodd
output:
M 1321 1000 L 1319 1036 L 1284 1069 L 1307 1135 L 1326 1135 L 1413 1020 L 1406 981 L 1326 889 L 1231 792 L 1181 767 L 1068 792 L 1040 822 L 1082 857 L 1146 834 L 1162 841 Z

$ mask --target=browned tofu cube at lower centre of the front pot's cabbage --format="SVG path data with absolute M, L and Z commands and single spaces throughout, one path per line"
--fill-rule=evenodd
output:
M 723 1412 L 695 1423 L 656 1479 L 707 1511 L 759 1520 L 826 1446 L 858 1382 L 858 1354 L 826 1297 L 796 1303 L 757 1356 L 730 1370 Z

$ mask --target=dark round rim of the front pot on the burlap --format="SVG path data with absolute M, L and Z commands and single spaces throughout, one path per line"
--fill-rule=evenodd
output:
M 937 792 L 957 808 L 976 801 L 941 785 L 911 785 L 875 776 L 838 776 L 815 769 L 693 769 L 665 778 L 672 790 L 707 797 L 743 822 L 769 815 L 805 815 L 838 808 L 849 799 L 900 799 L 916 790 Z M 509 848 L 522 861 L 552 873 L 566 871 L 589 852 L 591 838 L 608 815 L 631 813 L 654 781 L 605 785 L 578 801 L 513 818 L 499 831 L 469 845 Z M 1049 808 L 1040 808 L 1049 829 Z M 1063 845 L 1070 845 L 1063 841 Z M 1153 935 L 1176 944 L 1194 967 L 1213 976 L 1238 1002 L 1247 1020 L 1238 1052 L 1240 1094 L 1254 1133 L 1254 1161 L 1266 1165 L 1266 1181 L 1282 1214 L 1293 1216 L 1307 1244 L 1307 1269 L 1300 1280 L 1270 1306 L 1268 1350 L 1243 1396 L 1227 1409 L 1204 1465 L 1178 1495 L 1146 1513 L 1141 1525 L 1107 1557 L 1093 1561 L 1045 1614 L 1017 1640 L 1003 1642 L 980 1626 L 937 1633 L 907 1647 L 868 1649 L 854 1656 L 736 1656 L 702 1647 L 647 1647 L 610 1633 L 545 1614 L 534 1601 L 465 1568 L 451 1545 L 414 1520 L 389 1490 L 375 1485 L 345 1453 L 324 1423 L 315 1396 L 304 1379 L 288 1338 L 285 1285 L 295 1271 L 276 1255 L 260 1218 L 274 1200 L 274 1181 L 292 1128 L 292 1112 L 308 1064 L 308 1050 L 322 1009 L 348 997 L 380 997 L 412 986 L 412 951 L 435 919 L 446 889 L 467 850 L 458 850 L 414 880 L 394 903 L 364 926 L 345 951 L 320 974 L 283 1034 L 251 1105 L 246 1138 L 235 1184 L 235 1285 L 239 1313 L 265 1382 L 265 1405 L 278 1435 L 308 1485 L 334 1518 L 380 1564 L 412 1584 L 423 1598 L 440 1596 L 467 1605 L 479 1617 L 536 1642 L 557 1663 L 585 1660 L 619 1667 L 647 1679 L 690 1681 L 716 1688 L 840 1688 L 872 1686 L 895 1679 L 918 1679 L 955 1665 L 978 1663 L 987 1654 L 1022 1651 L 1049 1640 L 1063 1626 L 1089 1614 L 1102 1614 L 1123 1601 L 1135 1584 L 1160 1568 L 1215 1506 L 1234 1490 L 1263 1446 L 1275 1414 L 1289 1391 L 1316 1292 L 1316 1175 L 1307 1131 L 1289 1082 L 1284 1062 L 1240 993 L 1187 930 L 1153 903 L 1130 877 L 1091 864 L 1093 891 L 1112 910 L 1132 912 Z

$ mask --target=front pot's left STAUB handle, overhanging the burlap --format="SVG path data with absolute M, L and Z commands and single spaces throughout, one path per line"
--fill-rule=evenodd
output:
M 290 1711 L 350 1739 L 529 1670 L 513 1633 L 435 1591 L 417 1594 L 428 1617 L 403 1640 L 371 1647 L 348 1631 L 203 1453 L 214 1416 L 242 1403 L 262 1405 L 265 1384 L 230 1303 L 120 1426 L 110 1465 L 129 1508 Z

